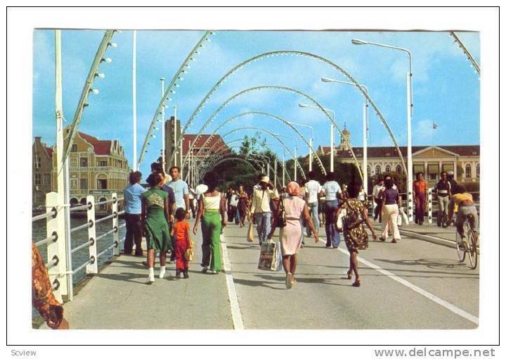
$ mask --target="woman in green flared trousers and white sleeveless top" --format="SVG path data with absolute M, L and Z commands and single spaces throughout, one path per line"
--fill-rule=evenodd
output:
M 197 234 L 197 226 L 202 220 L 202 272 L 210 269 L 216 275 L 221 271 L 221 228 L 226 226 L 226 197 L 216 187 L 218 180 L 212 172 L 204 177 L 207 191 L 200 196 L 197 218 L 193 226 L 193 234 Z

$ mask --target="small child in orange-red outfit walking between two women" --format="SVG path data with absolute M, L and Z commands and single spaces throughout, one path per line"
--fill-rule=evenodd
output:
M 181 278 L 181 272 L 188 278 L 188 258 L 185 256 L 188 248 L 191 248 L 190 223 L 186 220 L 186 210 L 176 210 L 176 223 L 172 229 L 174 236 L 174 253 L 176 256 L 176 278 Z

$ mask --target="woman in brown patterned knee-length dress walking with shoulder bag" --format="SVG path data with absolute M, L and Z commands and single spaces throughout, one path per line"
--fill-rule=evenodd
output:
M 360 184 L 349 185 L 348 198 L 342 203 L 342 206 L 338 208 L 335 215 L 335 218 L 337 219 L 339 217 L 339 213 L 341 213 L 342 210 L 346 210 L 346 215 L 344 215 L 343 219 L 343 234 L 346 248 L 348 248 L 350 253 L 350 268 L 346 274 L 348 279 L 351 279 L 351 272 L 355 273 L 355 282 L 351 284 L 353 286 L 361 285 L 361 279 L 358 275 L 358 262 L 356 258 L 358 250 L 368 248 L 368 234 L 365 232 L 362 222 L 365 222 L 365 225 L 367 225 L 370 229 L 372 238 L 375 241 L 378 240 L 377 234 L 372 228 L 368 218 L 369 203 L 363 203 L 357 199 L 360 188 Z

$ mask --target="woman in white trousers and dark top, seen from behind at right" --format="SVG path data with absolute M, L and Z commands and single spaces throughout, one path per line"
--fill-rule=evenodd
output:
M 384 178 L 385 190 L 382 193 L 382 219 L 383 229 L 380 241 L 385 241 L 388 238 L 389 230 L 394 234 L 392 243 L 397 243 L 401 239 L 401 234 L 398 232 L 397 217 L 398 209 L 401 207 L 401 196 L 398 190 L 394 188 L 394 180 L 390 176 Z

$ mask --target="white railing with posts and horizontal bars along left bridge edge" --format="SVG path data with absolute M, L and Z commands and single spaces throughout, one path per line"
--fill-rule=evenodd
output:
M 84 225 L 71 228 L 70 233 L 77 232 L 82 229 L 88 229 L 88 241 L 70 248 L 72 241 L 70 238 L 65 238 L 65 228 L 70 226 L 70 223 L 65 223 L 65 215 L 63 215 L 63 208 L 70 206 L 64 204 L 58 206 L 58 195 L 56 192 L 46 194 L 46 213 L 36 215 L 32 218 L 32 222 L 37 220 L 46 220 L 47 237 L 35 242 L 35 246 L 47 245 L 47 258 L 48 275 L 53 285 L 53 292 L 58 301 L 63 302 L 62 296 L 67 296 L 67 300 L 72 301 L 74 297 L 73 279 L 72 276 L 86 268 L 86 274 L 94 275 L 98 273 L 98 258 L 112 249 L 112 256 L 119 256 L 119 244 L 124 241 L 119 240 L 119 228 L 125 225 L 119 225 L 119 215 L 124 213 L 124 210 L 118 210 L 118 203 L 123 201 L 118 198 L 117 194 L 110 195 L 111 198 L 107 201 L 95 202 L 94 196 L 86 197 L 86 204 L 70 207 L 70 212 L 77 210 L 86 210 L 87 222 Z M 111 214 L 103 218 L 96 219 L 95 206 L 103 206 L 111 203 Z M 96 235 L 96 224 L 112 220 L 112 229 L 100 235 Z M 104 240 L 112 234 L 112 243 L 105 250 L 97 253 L 97 241 Z M 79 267 L 72 267 L 72 255 L 77 251 L 84 248 L 89 249 L 89 259 L 86 260 Z M 67 265 L 68 263 L 68 265 Z

